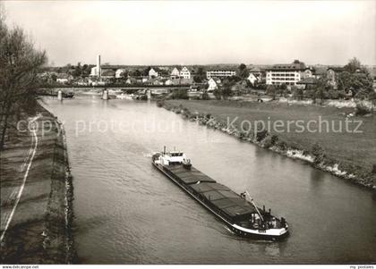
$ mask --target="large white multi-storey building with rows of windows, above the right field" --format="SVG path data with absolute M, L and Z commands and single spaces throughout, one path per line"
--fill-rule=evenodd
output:
M 266 69 L 266 84 L 269 85 L 296 85 L 303 79 L 306 70 L 304 63 L 275 64 Z

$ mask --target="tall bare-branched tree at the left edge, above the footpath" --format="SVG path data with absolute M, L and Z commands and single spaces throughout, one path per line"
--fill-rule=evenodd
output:
M 45 51 L 34 48 L 23 29 L 8 29 L 0 16 L 0 148 L 13 115 L 36 105 L 37 73 L 47 63 Z

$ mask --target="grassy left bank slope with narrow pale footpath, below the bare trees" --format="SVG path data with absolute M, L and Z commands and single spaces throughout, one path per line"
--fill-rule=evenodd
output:
M 1 153 L 1 261 L 72 263 L 73 186 L 64 130 L 40 105 L 36 115 L 21 114 L 22 130 L 27 130 L 30 116 L 36 123 L 35 135 L 32 130 L 9 130 Z

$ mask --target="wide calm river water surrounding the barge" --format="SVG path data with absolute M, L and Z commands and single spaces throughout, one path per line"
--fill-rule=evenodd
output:
M 376 202 L 310 165 L 207 129 L 155 103 L 45 99 L 64 122 L 83 264 L 274 264 L 376 261 Z M 192 164 L 284 216 L 280 242 L 239 238 L 150 164 L 183 150 Z

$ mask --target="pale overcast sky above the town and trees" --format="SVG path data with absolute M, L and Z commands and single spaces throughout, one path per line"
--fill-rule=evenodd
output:
M 376 64 L 376 1 L 5 1 L 50 63 Z

